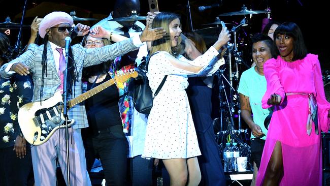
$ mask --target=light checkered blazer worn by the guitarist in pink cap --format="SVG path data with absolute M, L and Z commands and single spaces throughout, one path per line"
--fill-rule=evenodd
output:
M 34 98 L 33 101 L 40 101 L 40 89 L 42 83 L 42 53 L 44 45 L 38 46 L 36 44 L 30 44 L 29 48 L 22 55 L 12 60 L 9 64 L 22 63 L 29 68 L 32 73 L 32 80 L 34 82 Z M 80 44 L 73 45 L 71 47 L 73 58 L 77 66 L 78 80 L 74 85 L 73 95 L 69 95 L 69 100 L 73 97 L 77 97 L 82 94 L 81 90 L 81 75 L 82 68 L 92 65 L 97 65 L 103 61 L 114 59 L 116 56 L 123 55 L 129 51 L 137 49 L 133 44 L 132 39 L 128 39 L 113 45 L 108 45 L 102 48 L 86 49 Z M 8 74 L 5 69 L 8 64 L 5 64 L 0 68 L 0 75 L 3 78 L 9 79 L 13 74 Z M 61 81 L 56 71 L 54 55 L 50 44 L 47 44 L 47 76 L 44 77 L 44 89 L 42 92 L 42 100 L 46 100 L 52 97 L 60 85 Z M 69 118 L 75 119 L 74 129 L 81 129 L 88 127 L 87 116 L 85 106 L 78 104 L 69 110 Z

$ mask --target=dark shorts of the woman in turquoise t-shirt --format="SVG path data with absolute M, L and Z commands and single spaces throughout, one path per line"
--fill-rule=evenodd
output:
M 266 140 L 263 139 L 257 139 L 257 138 L 251 139 L 251 162 L 255 162 L 258 170 L 260 167 L 261 156 L 262 156 L 263 147 L 265 146 L 265 142 Z

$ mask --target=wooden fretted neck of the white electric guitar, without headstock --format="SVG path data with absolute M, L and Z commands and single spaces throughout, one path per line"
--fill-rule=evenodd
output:
M 84 94 L 81 94 L 77 98 L 74 98 L 74 99 L 70 100 L 68 102 L 69 108 L 77 105 L 78 103 L 81 103 L 81 102 L 87 100 L 88 98 L 96 95 L 98 92 L 100 92 L 100 91 L 108 88 L 109 86 L 111 86 L 113 84 L 115 84 L 115 80 L 114 79 L 110 79 L 110 80 L 102 83 L 101 85 L 98 85 L 98 86 L 96 86 L 96 87 L 94 87 L 94 88 L 86 91 Z

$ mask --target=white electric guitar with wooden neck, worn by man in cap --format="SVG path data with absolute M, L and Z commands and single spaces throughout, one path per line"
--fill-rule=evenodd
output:
M 125 82 L 130 77 L 136 78 L 137 76 L 138 72 L 133 70 L 118 74 L 113 79 L 110 79 L 101 85 L 86 91 L 77 98 L 70 100 L 68 102 L 68 109 L 94 96 L 107 87 L 117 84 L 117 82 Z M 35 146 L 41 145 L 45 143 L 57 129 L 65 128 L 62 102 L 62 94 L 59 90 L 55 92 L 53 97 L 42 101 L 41 104 L 39 101 L 31 102 L 23 105 L 19 109 L 17 120 L 21 132 L 28 143 Z M 71 127 L 74 122 L 74 119 L 68 119 L 68 127 Z

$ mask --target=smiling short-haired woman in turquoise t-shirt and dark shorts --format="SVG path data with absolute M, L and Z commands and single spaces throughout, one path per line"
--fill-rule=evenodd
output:
M 256 174 L 260 166 L 263 146 L 265 145 L 267 129 L 263 125 L 269 115 L 268 109 L 261 108 L 261 99 L 266 92 L 267 82 L 263 74 L 263 64 L 277 54 L 273 40 L 263 34 L 252 37 L 252 58 L 254 67 L 242 73 L 239 85 L 239 95 L 242 118 L 251 129 L 251 162 L 254 172 L 251 185 L 255 184 Z M 253 117 L 252 117 L 253 113 Z

